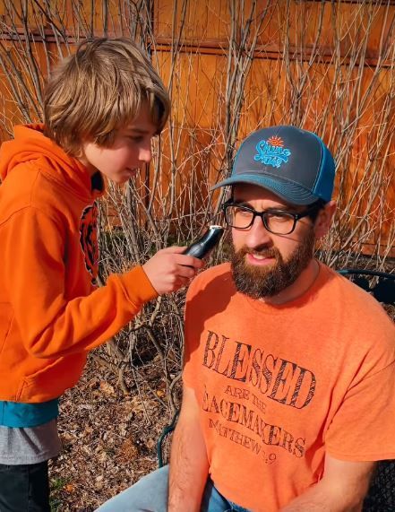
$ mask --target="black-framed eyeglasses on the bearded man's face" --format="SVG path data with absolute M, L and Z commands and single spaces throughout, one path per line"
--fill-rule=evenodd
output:
M 302 213 L 286 212 L 275 208 L 256 212 L 250 206 L 227 201 L 221 205 L 221 209 L 228 226 L 236 230 L 248 230 L 253 225 L 255 217 L 261 217 L 263 226 L 273 235 L 289 235 L 295 230 L 297 221 L 319 210 L 320 205 L 313 204 Z

